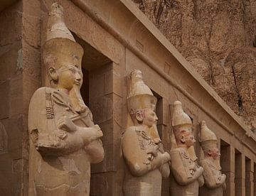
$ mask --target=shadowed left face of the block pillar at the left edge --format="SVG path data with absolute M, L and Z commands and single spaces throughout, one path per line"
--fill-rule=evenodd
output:
M 22 2 L 0 14 L 0 192 L 20 195 L 22 184 Z

